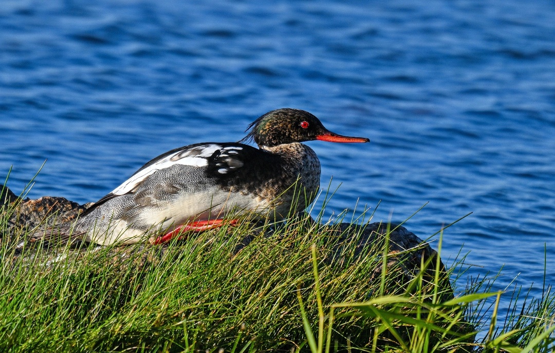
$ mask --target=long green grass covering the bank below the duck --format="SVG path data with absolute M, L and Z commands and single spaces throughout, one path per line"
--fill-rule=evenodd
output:
M 387 237 L 360 255 L 356 234 L 339 247 L 336 232 L 300 217 L 168 247 L 18 255 L 28 234 L 6 233 L 13 207 L 0 220 L 1 352 L 555 351 L 549 286 L 537 299 L 490 293 L 492 277 L 453 299 L 446 276 L 467 280 L 462 260 L 447 274 L 438 257 L 408 271 L 422 249 L 390 253 Z M 501 296 L 507 317 L 486 314 Z

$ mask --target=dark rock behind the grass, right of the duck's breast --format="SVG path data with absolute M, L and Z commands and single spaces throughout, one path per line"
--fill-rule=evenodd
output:
M 441 259 L 439 262 L 437 261 L 437 252 L 405 227 L 385 223 L 365 225 L 339 223 L 331 226 L 318 226 L 309 214 L 299 214 L 297 217 L 305 218 L 312 227 L 316 225 L 317 231 L 312 232 L 314 241 L 324 244 L 320 247 L 325 253 L 323 260 L 338 273 L 344 271 L 352 263 L 373 259 L 375 260 L 374 271 L 368 280 L 369 282 L 379 282 L 382 275 L 383 249 L 386 248 L 387 243 L 386 270 L 389 277 L 391 277 L 391 273 L 395 274 L 394 282 L 398 285 L 388 287 L 386 294 L 405 293 L 406 284 L 416 278 L 420 272 L 423 272 L 422 278 L 427 283 L 435 282 L 437 268 L 440 272 L 441 298 L 443 300 L 453 298 L 447 270 Z M 278 229 L 269 228 L 262 234 L 256 232 L 246 234 L 236 246 L 235 252 L 246 247 L 254 238 L 269 237 Z M 285 233 L 284 236 L 295 238 L 302 235 Z

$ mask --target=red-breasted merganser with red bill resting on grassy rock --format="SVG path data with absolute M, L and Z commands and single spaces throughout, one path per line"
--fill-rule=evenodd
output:
M 182 231 L 221 226 L 224 216 L 284 219 L 294 198 L 300 195 L 302 211 L 320 187 L 320 161 L 300 142 L 370 141 L 334 134 L 298 109 L 270 111 L 248 130 L 239 142 L 204 142 L 154 158 L 81 214 L 74 236 L 102 245 L 163 243 Z M 248 140 L 259 148 L 240 143 Z

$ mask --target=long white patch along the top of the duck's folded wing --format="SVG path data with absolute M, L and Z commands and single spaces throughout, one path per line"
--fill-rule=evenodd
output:
M 188 146 L 185 147 L 185 149 L 170 151 L 145 164 L 122 185 L 110 192 L 110 195 L 124 195 L 128 192 L 132 192 L 155 172 L 174 165 L 193 167 L 208 166 L 208 159 L 218 150 L 225 150 L 225 148 L 222 149 L 222 146 L 218 144 L 209 144 L 194 147 Z

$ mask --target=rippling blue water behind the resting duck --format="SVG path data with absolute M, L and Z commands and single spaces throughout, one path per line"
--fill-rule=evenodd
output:
M 175 147 L 305 109 L 370 144 L 309 142 L 344 209 L 448 228 L 476 277 L 555 283 L 555 3 L 8 1 L 0 175 L 80 203 Z M 376 205 L 380 202 L 379 207 Z M 437 239 L 437 236 L 435 237 Z M 437 247 L 437 242 L 433 243 Z M 461 283 L 463 284 L 463 283 Z M 507 299 L 503 302 L 506 305 Z

